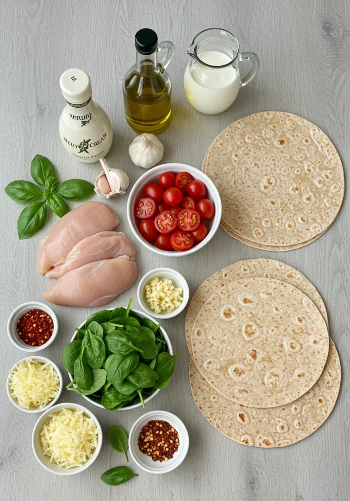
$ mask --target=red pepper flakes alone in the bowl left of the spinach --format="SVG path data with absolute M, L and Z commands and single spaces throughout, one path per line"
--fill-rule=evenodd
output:
M 42 346 L 53 332 L 52 319 L 42 310 L 30 310 L 17 320 L 18 336 L 29 346 Z

